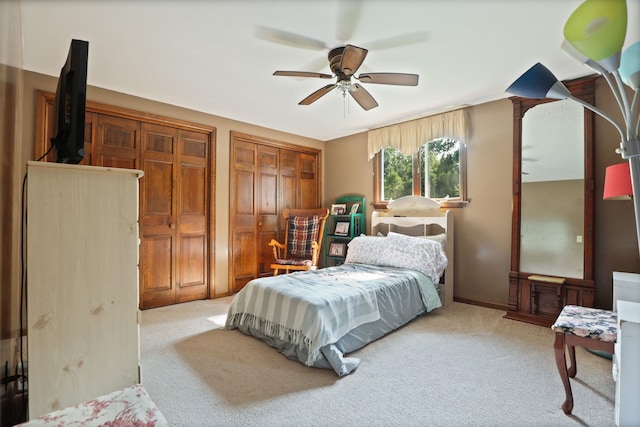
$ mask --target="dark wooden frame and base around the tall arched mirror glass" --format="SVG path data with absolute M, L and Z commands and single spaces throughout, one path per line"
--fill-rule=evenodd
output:
M 595 105 L 595 82 L 588 76 L 563 82 L 577 98 Z M 509 98 L 513 103 L 513 207 L 511 220 L 511 268 L 506 318 L 550 326 L 567 304 L 593 307 L 595 232 L 595 113 L 584 108 L 584 238 L 582 279 L 547 277 L 544 272 L 520 271 L 522 118 L 536 105 L 554 99 Z M 537 274 L 536 274 L 537 273 Z

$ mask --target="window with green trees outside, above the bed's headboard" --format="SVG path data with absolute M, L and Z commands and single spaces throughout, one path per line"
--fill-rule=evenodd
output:
M 443 206 L 466 204 L 466 151 L 460 141 L 438 138 L 419 147 L 414 154 L 383 148 L 376 154 L 376 207 L 389 200 L 420 195 Z

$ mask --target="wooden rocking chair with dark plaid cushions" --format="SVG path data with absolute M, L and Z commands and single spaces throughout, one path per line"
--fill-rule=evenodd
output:
M 273 249 L 273 275 L 277 276 L 280 270 L 289 273 L 317 269 L 329 210 L 283 209 L 282 216 L 286 218 L 285 241 L 269 242 Z

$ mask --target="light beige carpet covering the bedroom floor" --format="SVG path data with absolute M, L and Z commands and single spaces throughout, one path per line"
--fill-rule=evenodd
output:
M 550 329 L 453 303 L 353 353 L 344 378 L 237 330 L 231 298 L 145 310 L 142 382 L 173 426 L 614 426 L 611 361 L 577 349 L 572 416 Z

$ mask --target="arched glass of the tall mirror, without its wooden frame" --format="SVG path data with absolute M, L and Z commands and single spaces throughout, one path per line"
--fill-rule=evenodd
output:
M 522 118 L 520 271 L 584 276 L 584 111 L 562 100 Z

